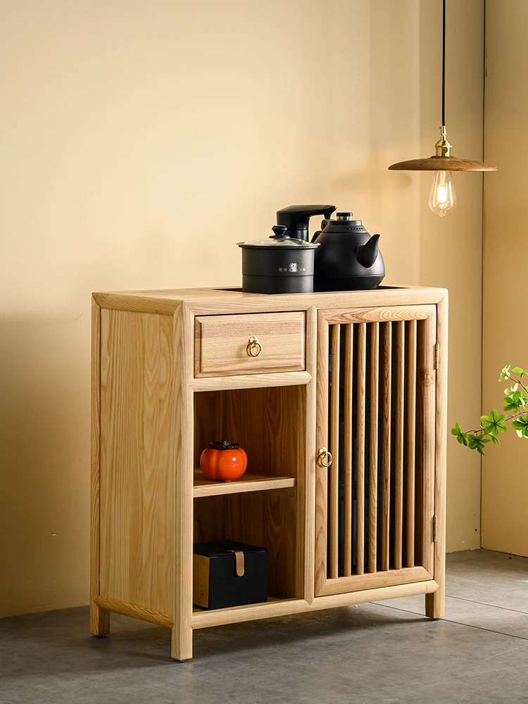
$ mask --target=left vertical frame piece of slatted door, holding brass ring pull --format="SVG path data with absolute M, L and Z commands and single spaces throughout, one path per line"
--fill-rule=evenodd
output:
M 328 447 L 328 333 L 328 322 L 319 311 L 316 448 Z M 318 464 L 315 477 L 315 596 L 317 596 L 327 579 L 327 468 Z

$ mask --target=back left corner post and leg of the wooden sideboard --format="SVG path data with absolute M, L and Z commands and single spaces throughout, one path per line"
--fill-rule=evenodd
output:
M 101 530 L 101 308 L 92 298 L 92 443 L 90 470 L 90 632 L 105 636 L 110 632 L 110 613 L 99 604 Z

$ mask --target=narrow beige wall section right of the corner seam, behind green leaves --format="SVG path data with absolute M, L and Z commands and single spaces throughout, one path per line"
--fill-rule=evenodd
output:
M 528 194 L 528 4 L 488 0 L 486 18 L 486 176 L 484 258 L 484 411 L 503 408 L 498 374 L 505 364 L 528 367 L 526 296 Z M 482 542 L 528 555 L 526 440 L 510 429 L 486 453 L 482 474 Z

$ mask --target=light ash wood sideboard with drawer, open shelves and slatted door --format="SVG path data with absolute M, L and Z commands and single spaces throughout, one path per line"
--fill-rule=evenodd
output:
M 444 615 L 447 291 L 96 293 L 91 631 L 194 629 L 425 594 Z M 257 339 L 258 344 L 254 341 Z M 213 439 L 246 474 L 210 482 Z M 192 603 L 193 543 L 268 549 L 266 603 Z

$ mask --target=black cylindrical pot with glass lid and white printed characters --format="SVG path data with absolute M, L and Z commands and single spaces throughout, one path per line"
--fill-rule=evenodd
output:
M 266 239 L 238 242 L 242 250 L 242 291 L 252 294 L 309 294 L 318 242 L 289 237 L 275 225 Z

